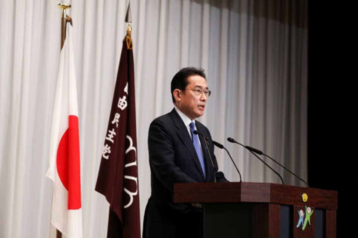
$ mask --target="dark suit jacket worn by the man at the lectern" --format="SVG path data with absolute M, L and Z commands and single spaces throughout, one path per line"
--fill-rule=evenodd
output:
M 199 135 L 205 160 L 205 179 L 187 126 L 176 110 L 159 116 L 150 124 L 148 150 L 151 197 L 144 215 L 145 238 L 202 237 L 203 209 L 194 208 L 191 204 L 173 203 L 173 185 L 214 182 L 214 174 L 217 182 L 228 182 L 224 174 L 218 172 L 209 130 L 198 121 L 196 127 L 198 132 L 208 137 L 207 149 L 204 138 Z

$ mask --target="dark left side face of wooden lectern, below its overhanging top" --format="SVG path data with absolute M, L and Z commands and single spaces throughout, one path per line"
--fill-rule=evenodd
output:
M 204 204 L 204 238 L 277 238 L 280 235 L 279 204 Z

